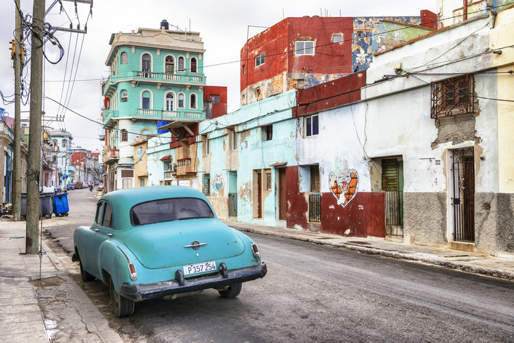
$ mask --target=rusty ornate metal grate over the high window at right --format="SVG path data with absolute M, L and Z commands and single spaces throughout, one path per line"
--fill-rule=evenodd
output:
M 431 98 L 430 118 L 474 113 L 473 75 L 432 82 Z

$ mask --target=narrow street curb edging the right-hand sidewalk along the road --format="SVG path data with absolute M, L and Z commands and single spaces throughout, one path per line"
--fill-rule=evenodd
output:
M 231 226 L 231 225 L 229 225 Z M 446 259 L 437 259 L 433 257 L 424 257 L 419 256 L 415 254 L 408 254 L 408 253 L 399 253 L 397 251 L 387 251 L 383 249 L 376 249 L 376 248 L 367 248 L 366 246 L 357 246 L 354 244 L 347 244 L 347 243 L 334 243 L 334 242 L 327 242 L 326 240 L 317 240 L 313 238 L 304 238 L 304 237 L 298 237 L 286 233 L 276 233 L 273 231 L 266 231 L 266 230 L 259 230 L 249 227 L 240 227 L 238 225 L 232 226 L 234 229 L 238 229 L 239 231 L 245 231 L 249 233 L 258 233 L 261 235 L 267 235 L 267 236 L 275 236 L 280 238 L 289 238 L 293 240 L 299 240 L 302 242 L 311 242 L 315 244 L 322 244 L 322 245 L 330 245 L 330 246 L 336 246 L 338 248 L 345 248 L 353 251 L 358 251 L 360 253 L 366 253 L 369 255 L 382 255 L 385 257 L 391 257 L 395 259 L 406 259 L 416 262 L 422 262 L 426 264 L 432 264 L 435 266 L 441 266 L 445 268 L 451 268 L 456 270 L 461 270 L 464 272 L 472 272 L 474 274 L 479 275 L 487 275 L 491 277 L 498 277 L 500 279 L 506 279 L 513 281 L 514 280 L 514 272 L 509 272 L 506 270 L 497 270 L 494 268 L 486 268 L 486 267 L 480 267 L 480 266 L 472 266 L 470 264 L 463 264 L 458 262 L 452 262 L 448 261 Z

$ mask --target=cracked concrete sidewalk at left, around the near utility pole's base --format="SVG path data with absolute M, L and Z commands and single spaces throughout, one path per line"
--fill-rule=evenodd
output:
M 0 246 L 0 342 L 123 342 L 45 241 L 25 255 L 25 221 L 0 219 Z

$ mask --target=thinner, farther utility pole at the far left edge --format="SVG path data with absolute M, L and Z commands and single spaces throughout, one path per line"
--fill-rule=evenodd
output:
M 21 67 L 23 59 L 21 57 L 21 44 L 23 42 L 23 27 L 21 24 L 20 0 L 16 0 L 14 34 L 14 164 L 13 187 L 12 187 L 12 214 L 14 221 L 21 220 Z

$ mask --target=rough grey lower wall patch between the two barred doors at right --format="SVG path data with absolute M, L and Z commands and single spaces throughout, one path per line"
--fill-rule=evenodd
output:
M 448 245 L 446 192 L 404 192 L 404 238 L 417 244 Z

